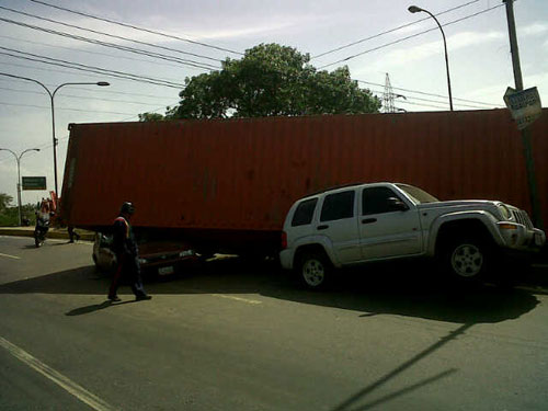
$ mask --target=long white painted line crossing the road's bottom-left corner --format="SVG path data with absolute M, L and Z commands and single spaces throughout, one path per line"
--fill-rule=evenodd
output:
M 3 346 L 5 350 L 10 352 L 14 357 L 21 359 L 23 363 L 28 365 L 31 368 L 34 370 L 38 372 L 46 378 L 50 379 L 68 392 L 70 392 L 72 396 L 78 398 L 80 401 L 87 403 L 90 406 L 92 409 L 96 411 L 114 411 L 116 410 L 114 407 L 111 407 L 107 404 L 105 401 L 103 401 L 101 398 L 96 397 L 95 395 L 91 393 L 90 391 L 85 390 L 83 387 L 79 386 L 78 384 L 71 381 L 67 377 L 65 377 L 62 374 L 59 374 L 52 367 L 47 366 L 46 364 L 42 363 L 39 359 L 33 357 L 31 354 L 28 354 L 26 351 L 21 350 L 19 346 L 12 344 L 8 340 L 3 339 L 0 336 L 0 345 Z

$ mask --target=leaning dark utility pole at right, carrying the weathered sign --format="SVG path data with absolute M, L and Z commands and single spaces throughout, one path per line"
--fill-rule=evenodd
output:
M 502 0 L 506 4 L 506 19 L 509 22 L 510 50 L 512 53 L 512 67 L 514 69 L 514 81 L 517 91 L 523 91 L 522 66 L 520 64 L 520 50 L 517 48 L 517 34 L 514 20 L 514 0 Z M 537 179 L 535 175 L 535 160 L 533 158 L 533 147 L 530 129 L 522 129 L 523 149 L 525 156 L 525 167 L 527 169 L 527 184 L 529 186 L 529 201 L 533 209 L 533 221 L 535 227 L 544 229 L 543 214 L 537 192 Z

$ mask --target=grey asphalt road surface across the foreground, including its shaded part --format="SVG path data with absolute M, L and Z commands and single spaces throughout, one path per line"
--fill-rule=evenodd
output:
M 0 237 L 0 409 L 548 409 L 543 293 L 452 292 L 406 266 L 312 293 L 224 259 L 111 305 L 90 254 Z

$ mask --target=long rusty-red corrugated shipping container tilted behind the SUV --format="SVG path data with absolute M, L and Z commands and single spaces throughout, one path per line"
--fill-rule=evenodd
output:
M 548 220 L 548 118 L 533 127 Z M 282 229 L 306 194 L 354 182 L 413 184 L 442 199 L 530 213 L 520 133 L 505 110 L 72 125 L 62 189 L 75 226 Z

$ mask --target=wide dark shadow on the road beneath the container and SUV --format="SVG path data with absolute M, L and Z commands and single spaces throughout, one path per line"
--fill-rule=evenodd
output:
M 418 267 L 416 270 L 420 270 Z M 401 274 L 403 273 L 403 274 Z M 84 294 L 106 297 L 110 277 L 93 266 L 47 274 L 0 285 L 0 294 Z M 248 264 L 240 259 L 224 259 L 189 267 L 184 274 L 167 281 L 146 281 L 151 295 L 255 294 L 282 300 L 298 301 L 356 311 L 364 318 L 398 315 L 454 323 L 499 322 L 530 311 L 538 299 L 521 289 L 490 286 L 452 290 L 406 266 L 384 266 L 366 272 L 345 273 L 329 292 L 310 292 L 281 271 L 275 263 Z M 127 286 L 122 295 L 133 296 Z M 90 308 L 91 307 L 91 308 Z M 90 306 L 72 315 L 106 307 Z M 93 308 L 94 307 L 94 308 Z M 72 312 L 72 311 L 71 311 Z

